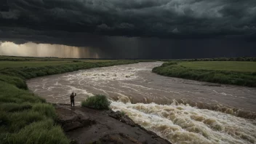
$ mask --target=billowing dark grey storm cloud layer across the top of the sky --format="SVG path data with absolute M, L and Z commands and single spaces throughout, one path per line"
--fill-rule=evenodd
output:
M 1 25 L 108 36 L 191 38 L 255 33 L 255 0 L 12 0 Z M 7 11 L 8 7 L 8 11 Z M 10 25 L 11 24 L 11 25 Z

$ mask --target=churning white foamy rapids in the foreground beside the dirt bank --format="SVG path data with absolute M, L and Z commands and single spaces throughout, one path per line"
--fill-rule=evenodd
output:
M 111 103 L 137 124 L 172 143 L 255 143 L 256 121 L 190 105 Z

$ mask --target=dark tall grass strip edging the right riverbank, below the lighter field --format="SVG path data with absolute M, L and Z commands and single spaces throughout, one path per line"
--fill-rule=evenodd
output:
M 177 63 L 164 63 L 153 68 L 153 73 L 163 76 L 177 77 L 183 79 L 193 79 L 220 84 L 236 84 L 240 86 L 256 87 L 255 72 L 236 72 L 236 71 L 215 71 L 186 68 Z

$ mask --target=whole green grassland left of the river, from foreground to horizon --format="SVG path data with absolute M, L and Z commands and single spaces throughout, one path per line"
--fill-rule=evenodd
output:
M 23 58 L 23 57 L 15 57 Z M 57 59 L 57 58 L 55 58 Z M 28 90 L 26 79 L 137 60 L 0 60 L 0 143 L 70 143 L 55 108 Z M 146 61 L 146 60 L 143 60 Z

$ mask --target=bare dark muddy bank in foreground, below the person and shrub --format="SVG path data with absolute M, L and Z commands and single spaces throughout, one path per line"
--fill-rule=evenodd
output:
M 55 107 L 58 122 L 72 143 L 169 143 L 119 111 L 71 108 L 63 104 Z

